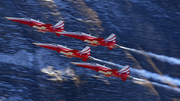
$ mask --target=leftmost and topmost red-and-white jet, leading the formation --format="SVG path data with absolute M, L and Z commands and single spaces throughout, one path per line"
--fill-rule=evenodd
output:
M 5 17 L 6 19 L 19 22 L 22 24 L 29 25 L 33 28 L 38 29 L 40 32 L 62 32 L 64 31 L 64 21 L 59 21 L 56 25 L 52 26 L 52 24 L 45 24 L 43 22 L 40 22 L 38 20 L 30 19 L 30 18 L 15 18 L 15 17 Z M 59 34 L 57 34 L 59 35 Z

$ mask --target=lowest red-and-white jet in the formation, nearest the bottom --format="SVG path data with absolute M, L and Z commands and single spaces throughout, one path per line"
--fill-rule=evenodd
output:
M 127 79 L 132 80 L 133 77 L 130 76 L 130 69 L 129 66 L 123 67 L 120 71 L 118 69 L 111 69 L 99 64 L 90 64 L 90 63 L 80 63 L 80 62 L 71 62 L 72 64 L 78 65 L 80 67 L 88 68 L 95 70 L 96 72 L 102 73 L 107 77 L 118 77 L 121 78 L 122 81 L 126 81 Z

